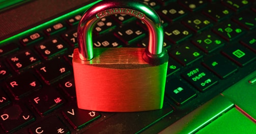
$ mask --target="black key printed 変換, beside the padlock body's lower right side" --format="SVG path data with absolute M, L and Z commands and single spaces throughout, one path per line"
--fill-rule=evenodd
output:
M 178 78 L 168 80 L 165 86 L 165 93 L 167 97 L 173 99 L 178 106 L 189 102 L 196 96 L 195 91 Z

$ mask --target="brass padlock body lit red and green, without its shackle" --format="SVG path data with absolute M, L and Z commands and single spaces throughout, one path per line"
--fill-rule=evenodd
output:
M 107 112 L 161 109 L 168 62 L 152 66 L 143 60 L 144 52 L 145 48 L 95 48 L 95 57 L 83 61 L 75 49 L 78 108 Z

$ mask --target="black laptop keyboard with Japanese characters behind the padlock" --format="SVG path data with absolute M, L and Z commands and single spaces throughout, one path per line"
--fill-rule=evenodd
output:
M 0 44 L 0 133 L 136 133 L 168 117 L 157 132 L 255 70 L 254 2 L 143 2 L 158 12 L 164 26 L 169 62 L 163 109 L 106 113 L 77 108 L 72 53 L 83 10 Z M 128 15 L 102 18 L 93 33 L 94 47 L 148 43 L 146 26 Z

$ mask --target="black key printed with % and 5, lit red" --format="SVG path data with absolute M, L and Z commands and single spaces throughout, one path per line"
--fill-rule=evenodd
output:
M 10 56 L 8 61 L 16 72 L 22 72 L 40 63 L 40 58 L 33 51 L 28 49 Z

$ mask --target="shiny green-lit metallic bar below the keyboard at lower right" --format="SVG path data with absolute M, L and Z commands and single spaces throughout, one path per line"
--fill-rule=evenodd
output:
M 218 95 L 174 124 L 166 127 L 159 134 L 194 133 L 234 106 L 227 98 Z

